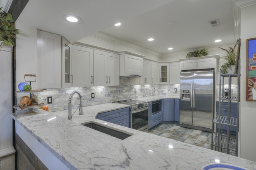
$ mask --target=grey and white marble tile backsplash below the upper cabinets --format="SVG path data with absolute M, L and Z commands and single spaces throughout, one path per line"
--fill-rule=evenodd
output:
M 174 88 L 177 88 L 177 92 L 174 91 Z M 135 89 L 137 93 L 134 93 Z M 47 97 L 52 96 L 53 103 L 48 104 L 50 111 L 61 111 L 68 109 L 68 98 L 72 91 L 78 91 L 82 95 L 82 104 L 83 107 L 85 107 L 153 95 L 179 95 L 180 85 L 130 85 L 130 77 L 120 77 L 119 86 L 46 89 L 45 91 L 41 92 L 40 95 L 44 95 L 46 99 Z M 91 93 L 94 93 L 94 99 L 91 99 Z M 77 94 L 74 94 L 72 97 L 72 107 L 77 108 L 79 103 L 80 98 Z

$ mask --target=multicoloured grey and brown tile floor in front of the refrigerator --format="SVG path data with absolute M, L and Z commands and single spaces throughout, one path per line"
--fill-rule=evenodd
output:
M 211 132 L 184 128 L 179 124 L 160 124 L 149 130 L 149 133 L 211 149 Z M 225 153 L 226 150 L 222 150 L 222 152 Z M 235 155 L 236 153 L 231 151 L 230 154 Z

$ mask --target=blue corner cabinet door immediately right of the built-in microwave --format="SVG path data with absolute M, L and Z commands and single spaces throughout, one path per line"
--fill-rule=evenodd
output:
M 174 99 L 163 99 L 163 121 L 174 121 Z

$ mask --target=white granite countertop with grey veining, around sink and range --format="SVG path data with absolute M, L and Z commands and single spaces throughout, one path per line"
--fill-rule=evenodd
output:
M 161 96 L 138 100 L 155 99 L 161 99 Z M 72 121 L 67 118 L 67 110 L 50 113 L 40 110 L 36 115 L 13 113 L 12 118 L 70 169 L 198 170 L 218 159 L 221 163 L 256 170 L 256 162 L 250 160 L 95 119 L 98 113 L 125 107 L 128 105 L 118 103 L 83 107 L 84 115 L 75 113 Z M 47 121 L 52 117 L 56 119 Z M 90 122 L 132 136 L 120 140 L 80 125 Z

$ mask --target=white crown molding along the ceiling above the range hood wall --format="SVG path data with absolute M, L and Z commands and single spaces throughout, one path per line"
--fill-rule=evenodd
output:
M 101 38 L 103 40 L 107 40 L 107 41 L 110 41 L 110 42 L 114 42 L 114 43 L 117 43 L 117 44 L 120 44 L 120 45 L 124 45 L 126 47 L 130 47 L 130 48 L 133 48 L 133 49 L 136 49 L 136 50 L 144 51 L 146 53 L 150 53 L 150 54 L 156 55 L 158 57 L 162 56 L 161 53 L 158 53 L 158 52 L 153 51 L 151 49 L 142 47 L 140 45 L 137 45 L 137 44 L 134 44 L 134 43 L 131 43 L 131 42 L 128 42 L 128 41 L 123 40 L 121 38 L 117 38 L 115 36 L 111 36 L 111 35 L 106 34 L 104 32 L 98 32 L 98 33 L 92 34 L 91 36 L 94 36 L 94 37 L 97 37 L 97 38 Z

